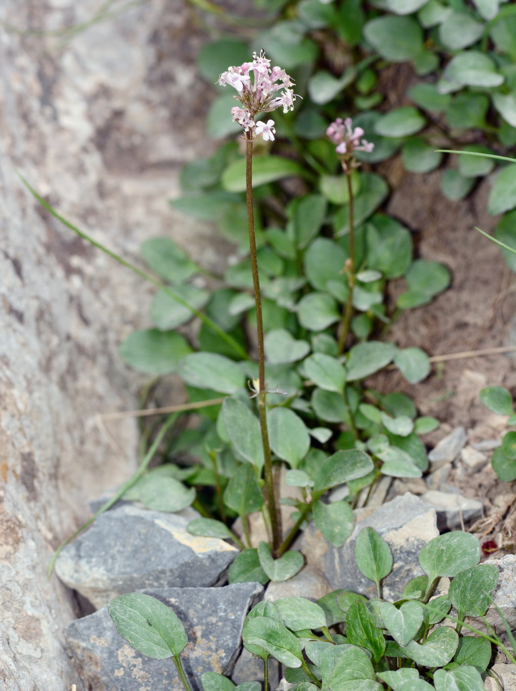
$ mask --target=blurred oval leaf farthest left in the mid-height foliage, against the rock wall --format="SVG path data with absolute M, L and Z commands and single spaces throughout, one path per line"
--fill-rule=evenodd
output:
M 181 334 L 145 329 L 129 334 L 119 352 L 120 357 L 138 372 L 168 375 L 176 371 L 179 361 L 192 352 L 192 348 Z

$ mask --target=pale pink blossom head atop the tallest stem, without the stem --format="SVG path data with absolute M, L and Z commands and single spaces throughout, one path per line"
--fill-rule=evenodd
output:
M 293 110 L 295 94 L 291 89 L 294 83 L 285 70 L 279 67 L 270 68 L 264 51 L 259 55 L 253 54 L 252 62 L 244 62 L 239 66 L 229 67 L 221 74 L 219 84 L 229 84 L 236 89 L 235 96 L 243 108 L 235 106 L 231 109 L 233 120 L 238 122 L 243 131 L 250 133 L 250 138 L 261 134 L 264 140 L 274 140 L 274 120 L 255 122 L 257 113 L 270 113 L 283 106 L 283 112 Z M 277 91 L 281 95 L 276 95 Z

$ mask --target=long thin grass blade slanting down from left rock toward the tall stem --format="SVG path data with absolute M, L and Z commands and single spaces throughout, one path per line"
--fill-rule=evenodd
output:
M 246 351 L 243 350 L 241 345 L 237 343 L 237 341 L 232 339 L 232 337 L 230 337 L 228 334 L 226 334 L 218 325 L 216 325 L 216 323 L 212 321 L 210 317 L 203 314 L 203 312 L 196 310 L 195 307 L 192 307 L 190 303 L 183 299 L 181 295 L 178 295 L 174 290 L 172 290 L 172 288 L 170 288 L 167 285 L 163 285 L 163 283 L 161 283 L 161 281 L 158 281 L 157 278 L 154 278 L 154 276 L 147 274 L 147 272 L 142 271 L 142 269 L 138 269 L 137 266 L 131 264 L 131 262 L 127 261 L 120 255 L 113 252 L 111 249 L 109 249 L 109 247 L 102 245 L 97 240 L 94 240 L 93 238 L 91 238 L 91 236 L 87 235 L 84 231 L 80 230 L 75 225 L 73 225 L 73 223 L 70 223 L 70 221 L 66 220 L 66 218 L 58 214 L 57 211 L 55 211 L 55 209 L 53 209 L 53 207 L 51 207 L 50 204 L 48 204 L 48 202 L 44 200 L 44 198 L 39 196 L 37 191 L 35 191 L 35 189 L 33 189 L 33 187 L 30 186 L 30 184 L 27 182 L 24 176 L 21 175 L 21 173 L 18 173 L 18 175 L 21 179 L 21 182 L 24 183 L 25 187 L 28 189 L 28 191 L 30 191 L 33 197 L 37 199 L 38 202 L 42 205 L 42 207 L 44 207 L 44 209 L 46 209 L 50 214 L 52 214 L 54 218 L 57 218 L 57 220 L 59 220 L 63 225 L 66 225 L 67 228 L 71 229 L 76 235 L 78 235 L 83 240 L 86 240 L 86 242 L 90 243 L 90 245 L 93 245 L 93 247 L 98 247 L 98 249 L 101 249 L 102 252 L 104 252 L 104 254 L 107 254 L 115 261 L 118 261 L 119 264 L 125 266 L 127 269 L 131 269 L 131 271 L 140 276 L 140 278 L 144 278 L 145 281 L 149 281 L 149 283 L 152 283 L 152 285 L 156 285 L 156 287 L 163 290 L 165 293 L 167 293 L 167 295 L 169 295 L 172 299 L 176 300 L 176 302 L 178 302 L 180 305 L 183 305 L 183 307 L 186 307 L 187 310 L 190 310 L 190 312 L 192 312 L 194 316 L 201 319 L 201 321 L 203 321 L 205 325 L 208 326 L 208 328 L 210 328 L 214 333 L 220 336 L 221 339 L 224 339 L 226 343 L 229 343 L 229 345 L 231 345 L 233 350 L 237 352 L 240 357 L 246 360 L 250 359 L 250 357 L 248 356 Z

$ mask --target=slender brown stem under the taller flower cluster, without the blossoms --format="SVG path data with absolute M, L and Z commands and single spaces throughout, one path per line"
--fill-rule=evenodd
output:
M 282 529 L 279 518 L 279 509 L 276 504 L 276 493 L 273 479 L 273 459 L 270 454 L 269 436 L 267 430 L 266 413 L 266 385 L 265 385 L 265 350 L 264 350 L 264 320 L 261 314 L 260 279 L 258 274 L 258 261 L 256 254 L 255 238 L 255 212 L 252 206 L 252 139 L 248 133 L 246 140 L 246 201 L 249 227 L 249 249 L 251 257 L 252 287 L 255 291 L 256 325 L 258 334 L 258 417 L 261 430 L 261 444 L 264 447 L 264 480 L 266 502 L 270 515 L 270 523 L 273 529 L 272 551 L 276 553 L 281 541 Z

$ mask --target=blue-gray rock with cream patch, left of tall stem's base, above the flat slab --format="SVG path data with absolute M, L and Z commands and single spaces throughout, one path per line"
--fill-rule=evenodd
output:
M 221 581 L 237 549 L 190 535 L 189 518 L 127 505 L 102 513 L 67 545 L 57 576 L 97 608 L 145 587 L 207 587 Z

